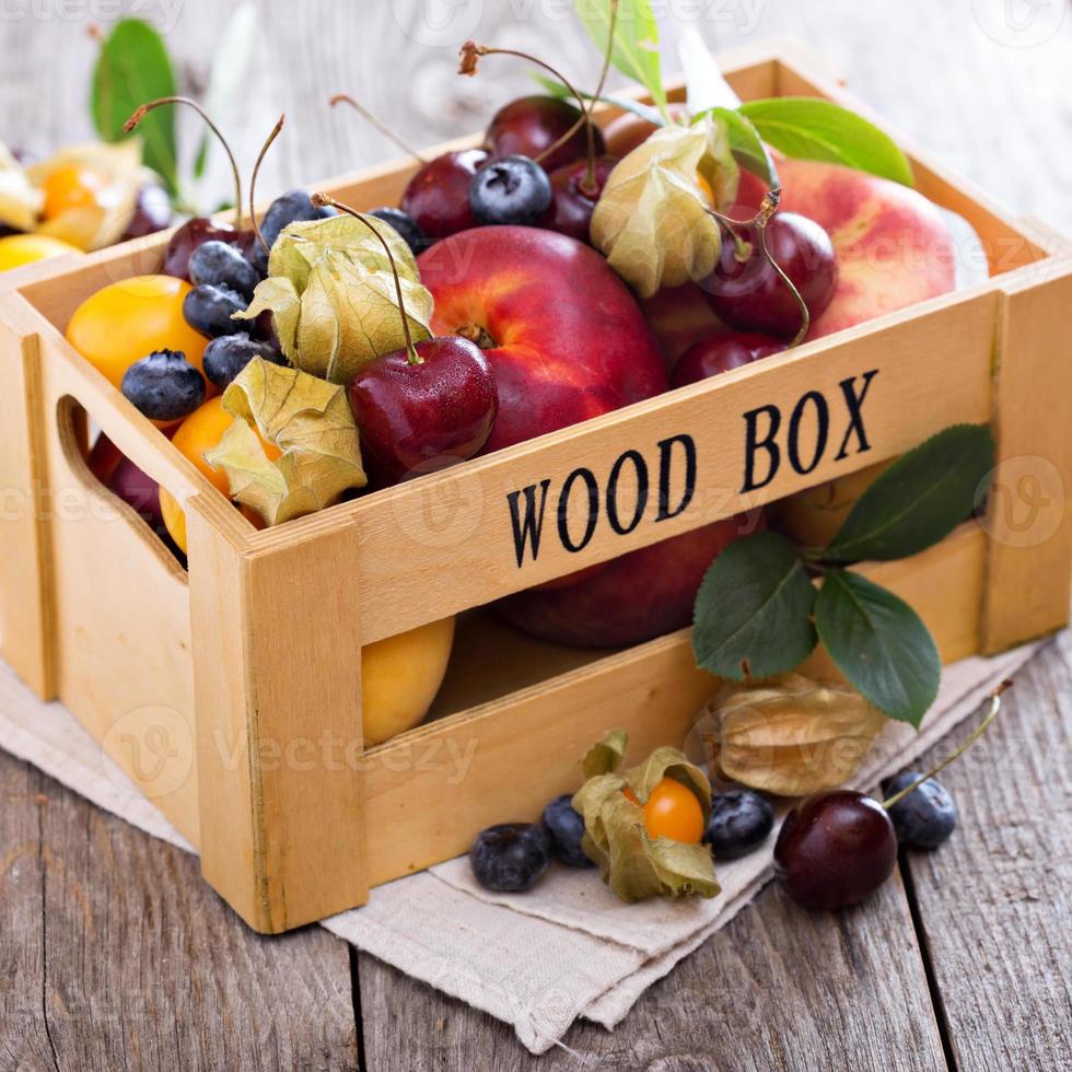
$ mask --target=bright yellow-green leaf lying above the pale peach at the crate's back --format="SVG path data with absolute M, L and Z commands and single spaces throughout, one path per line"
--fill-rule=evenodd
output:
M 912 185 L 908 158 L 887 133 L 832 101 L 780 96 L 738 108 L 759 136 L 786 156 L 844 164 L 905 186 Z

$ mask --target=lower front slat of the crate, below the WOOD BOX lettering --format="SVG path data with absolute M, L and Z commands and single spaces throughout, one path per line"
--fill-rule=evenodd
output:
M 954 662 L 978 650 L 983 549 L 969 523 L 912 559 L 861 572 L 908 601 Z M 836 676 L 822 653 L 809 669 Z M 374 749 L 365 782 L 372 884 L 467 851 L 504 816 L 537 818 L 554 795 L 576 789 L 580 757 L 607 730 L 629 731 L 631 760 L 681 745 L 716 688 L 696 668 L 684 630 Z

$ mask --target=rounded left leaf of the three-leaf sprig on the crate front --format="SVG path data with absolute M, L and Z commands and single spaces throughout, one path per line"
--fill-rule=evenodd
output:
M 697 665 L 734 680 L 793 669 L 815 648 L 814 604 L 800 552 L 784 536 L 759 532 L 734 541 L 696 596 Z

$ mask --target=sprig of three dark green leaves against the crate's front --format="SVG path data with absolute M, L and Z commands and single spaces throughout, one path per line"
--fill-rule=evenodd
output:
M 769 677 L 822 641 L 861 695 L 918 727 L 941 677 L 934 639 L 907 603 L 848 567 L 944 539 L 971 515 L 993 466 L 990 430 L 954 424 L 885 469 L 827 547 L 801 548 L 770 531 L 732 544 L 697 595 L 697 665 L 732 680 Z

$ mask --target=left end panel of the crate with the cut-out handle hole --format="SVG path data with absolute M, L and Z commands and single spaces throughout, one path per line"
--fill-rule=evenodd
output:
M 189 599 L 179 563 L 82 454 L 79 383 L 43 369 L 57 694 L 153 804 L 198 841 Z

